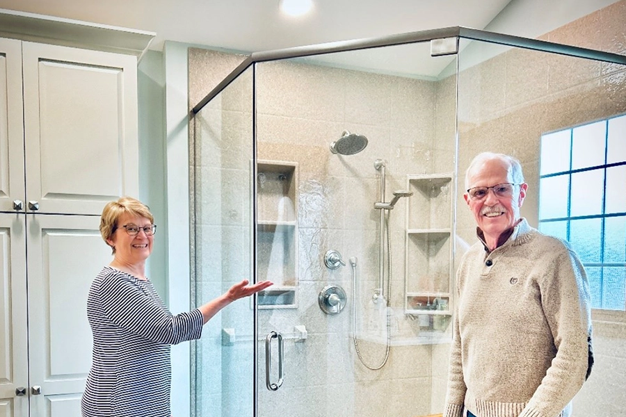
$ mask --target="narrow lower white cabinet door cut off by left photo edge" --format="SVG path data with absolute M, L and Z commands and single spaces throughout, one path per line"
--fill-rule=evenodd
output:
M 28 417 L 24 214 L 0 214 L 0 416 Z

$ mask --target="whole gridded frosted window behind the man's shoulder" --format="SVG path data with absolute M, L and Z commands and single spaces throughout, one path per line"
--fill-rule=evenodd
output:
M 626 310 L 626 115 L 541 136 L 539 230 L 568 240 L 594 309 Z

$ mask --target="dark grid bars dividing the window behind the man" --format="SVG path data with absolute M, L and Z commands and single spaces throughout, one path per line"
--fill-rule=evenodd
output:
M 619 218 L 619 217 L 624 217 L 626 218 L 626 211 L 624 212 L 620 212 L 620 213 L 606 213 L 607 211 L 607 169 L 611 168 L 611 167 L 619 167 L 619 166 L 623 166 L 626 165 L 626 161 L 619 161 L 619 162 L 613 162 L 613 163 L 607 163 L 607 161 L 609 161 L 609 120 L 611 119 L 607 119 L 604 120 L 604 163 L 602 165 L 593 165 L 590 167 L 582 167 L 582 168 L 577 168 L 577 169 L 573 169 L 572 167 L 572 161 L 573 161 L 573 154 L 575 152 L 575 142 L 574 142 L 574 129 L 575 128 L 571 128 L 571 129 L 565 129 L 568 131 L 569 133 L 569 141 L 570 141 L 570 152 L 569 152 L 569 166 L 568 166 L 568 170 L 566 171 L 561 171 L 561 172 L 551 172 L 548 174 L 542 174 L 540 175 L 540 187 L 543 185 L 544 180 L 547 178 L 551 178 L 551 177 L 559 177 L 559 176 L 567 176 L 568 178 L 568 192 L 567 192 L 567 208 L 566 208 L 566 217 L 553 217 L 553 218 L 542 218 L 540 215 L 539 218 L 539 224 L 541 226 L 541 224 L 547 224 L 549 222 L 565 222 L 565 236 L 566 236 L 566 240 L 571 242 L 571 225 L 572 225 L 572 221 L 575 220 L 587 220 L 587 219 L 601 219 L 600 220 L 600 238 L 601 238 L 601 243 L 600 243 L 600 262 L 590 262 L 590 261 L 584 261 L 583 265 L 586 268 L 598 268 L 599 270 L 599 274 L 597 276 L 598 281 L 597 284 L 599 285 L 599 300 L 595 300 L 595 305 L 593 305 L 593 308 L 607 308 L 607 306 L 609 305 L 609 301 L 610 300 L 604 300 L 604 268 L 607 267 L 624 267 L 626 269 L 626 261 L 625 262 L 619 262 L 619 263 L 615 263 L 615 262 L 607 262 L 605 263 L 605 250 L 607 250 L 607 240 L 605 239 L 605 232 L 606 232 L 606 219 L 607 218 Z M 543 147 L 543 140 L 544 140 L 545 136 L 542 136 L 542 147 Z M 558 157 L 558 156 L 557 156 Z M 541 156 L 541 158 L 543 160 L 543 155 Z M 579 172 L 588 172 L 588 171 L 593 171 L 593 170 L 602 170 L 602 205 L 601 205 L 601 213 L 597 213 L 597 214 L 591 214 L 591 215 L 575 215 L 572 216 L 572 174 L 577 174 Z M 626 208 L 625 208 L 626 209 Z M 626 245 L 626 242 L 624 243 L 624 245 Z M 590 282 L 591 284 L 591 282 Z M 626 294 L 624 295 L 624 297 L 626 298 Z M 626 309 L 626 306 L 623 307 L 622 309 Z

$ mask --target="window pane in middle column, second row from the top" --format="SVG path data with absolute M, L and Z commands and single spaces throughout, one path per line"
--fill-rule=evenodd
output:
M 570 215 L 602 214 L 604 170 L 591 170 L 572 174 L 572 202 Z

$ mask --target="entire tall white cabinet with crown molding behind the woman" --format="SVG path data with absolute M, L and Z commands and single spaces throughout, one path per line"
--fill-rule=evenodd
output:
M 0 10 L 1 416 L 81 415 L 87 293 L 111 261 L 99 214 L 138 194 L 133 34 L 76 23 Z

